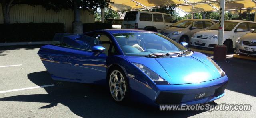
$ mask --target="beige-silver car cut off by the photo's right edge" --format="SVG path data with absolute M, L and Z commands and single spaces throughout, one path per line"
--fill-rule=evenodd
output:
M 235 45 L 235 52 L 237 54 L 256 56 L 256 31 L 251 29 L 251 32 L 238 37 Z

